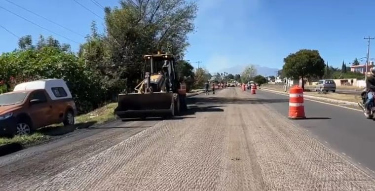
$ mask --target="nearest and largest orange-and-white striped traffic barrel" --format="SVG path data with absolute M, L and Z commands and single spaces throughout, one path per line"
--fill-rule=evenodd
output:
M 303 89 L 295 85 L 289 90 L 289 118 L 304 119 L 306 118 L 303 106 Z

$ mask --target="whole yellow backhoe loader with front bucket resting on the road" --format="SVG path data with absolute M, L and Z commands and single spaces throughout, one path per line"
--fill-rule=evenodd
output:
M 165 117 L 186 110 L 186 84 L 178 76 L 174 55 L 158 52 L 143 58 L 143 80 L 134 88 L 136 93 L 118 94 L 115 115 L 121 119 Z

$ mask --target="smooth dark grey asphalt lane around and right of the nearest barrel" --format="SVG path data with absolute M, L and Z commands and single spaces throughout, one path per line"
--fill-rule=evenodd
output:
M 262 90 L 257 91 L 256 97 L 269 100 L 285 99 L 285 102 L 268 103 L 267 106 L 288 116 L 289 97 Z M 353 162 L 375 171 L 374 120 L 366 119 L 359 111 L 314 101 L 305 100 L 304 108 L 306 117 L 310 119 L 294 120 L 295 123 L 324 144 L 344 153 Z

